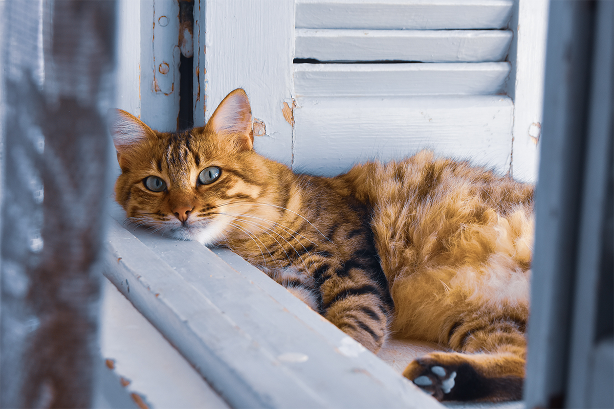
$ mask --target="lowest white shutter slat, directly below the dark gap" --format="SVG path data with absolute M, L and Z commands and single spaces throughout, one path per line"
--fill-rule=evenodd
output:
M 294 64 L 297 96 L 499 94 L 509 63 Z

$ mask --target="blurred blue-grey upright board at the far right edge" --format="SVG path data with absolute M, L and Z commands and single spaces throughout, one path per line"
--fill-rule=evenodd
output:
M 584 160 L 581 194 L 580 227 L 578 229 L 578 256 L 574 285 L 572 331 L 570 335 L 569 377 L 567 379 L 567 407 L 597 407 L 591 400 L 607 396 L 596 391 L 593 384 L 610 385 L 614 381 L 612 367 L 609 373 L 598 373 L 593 361 L 596 338 L 599 334 L 599 287 L 604 277 L 604 240 L 607 243 L 608 183 L 612 172 L 614 117 L 614 3 L 598 2 L 594 21 L 594 48 L 591 66 L 591 92 L 588 101 L 588 129 L 586 130 L 586 156 Z M 609 204 L 611 206 L 611 204 Z M 611 209 L 609 209 L 611 210 Z M 611 228 L 611 226 L 609 226 Z M 612 274 L 610 270 L 609 274 Z M 610 318 L 612 319 L 612 318 Z M 611 322 L 611 321 L 610 321 Z M 611 356 L 612 354 L 610 354 Z M 604 379 L 605 378 L 605 379 Z M 612 388 L 608 388 L 612 391 Z M 612 393 L 609 393 L 612 396 Z M 605 402 L 604 402 L 605 403 Z M 609 407 L 614 404 L 609 399 Z

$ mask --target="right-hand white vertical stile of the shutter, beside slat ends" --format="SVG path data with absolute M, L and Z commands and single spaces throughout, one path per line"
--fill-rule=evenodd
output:
M 548 0 L 520 0 L 515 44 L 510 47 L 513 75 L 508 93 L 514 99 L 511 172 L 517 180 L 535 182 L 542 132 L 543 78 L 548 31 Z

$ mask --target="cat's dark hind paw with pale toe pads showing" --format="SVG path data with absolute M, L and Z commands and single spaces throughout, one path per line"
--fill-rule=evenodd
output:
M 452 391 L 456 375 L 456 370 L 428 358 L 415 359 L 403 371 L 404 377 L 437 400 L 444 400 Z

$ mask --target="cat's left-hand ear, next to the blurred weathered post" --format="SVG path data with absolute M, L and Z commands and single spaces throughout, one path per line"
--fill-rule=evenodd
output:
M 122 170 L 130 167 L 130 154 L 134 148 L 155 136 L 155 132 L 139 118 L 121 109 L 109 110 L 109 130 L 117 150 L 117 161 Z

